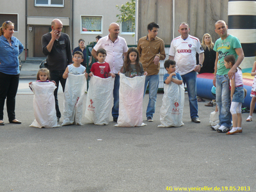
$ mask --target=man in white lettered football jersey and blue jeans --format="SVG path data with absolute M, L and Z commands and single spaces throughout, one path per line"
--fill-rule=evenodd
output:
M 196 72 L 202 68 L 204 49 L 198 38 L 189 35 L 188 23 L 182 22 L 178 31 L 180 36 L 172 40 L 169 60 L 176 61 L 176 71 L 182 77 L 183 83 L 187 84 L 191 121 L 200 123 L 196 100 Z M 199 54 L 198 65 L 196 65 L 196 52 Z

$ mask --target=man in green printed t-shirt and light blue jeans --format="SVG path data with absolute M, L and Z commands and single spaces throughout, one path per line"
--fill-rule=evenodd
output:
M 236 73 L 236 68 L 244 59 L 244 52 L 240 41 L 236 36 L 228 34 L 228 26 L 224 20 L 215 23 L 215 32 L 220 36 L 214 44 L 213 50 L 216 51 L 213 84 L 216 86 L 216 103 L 218 105 L 220 123 L 212 127 L 218 132 L 228 132 L 232 126 L 232 116 L 230 113 L 230 90 L 229 79 Z M 232 68 L 226 68 L 224 58 L 232 54 L 236 58 L 236 63 Z M 241 127 L 239 127 L 241 128 Z

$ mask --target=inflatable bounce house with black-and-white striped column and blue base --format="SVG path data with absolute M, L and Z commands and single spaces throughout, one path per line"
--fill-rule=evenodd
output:
M 244 60 L 239 67 L 243 72 L 244 88 L 247 95 L 243 107 L 250 108 L 253 78 L 251 76 L 253 62 L 256 60 L 256 0 L 228 0 L 228 33 L 236 36 L 244 51 Z M 211 88 L 213 74 L 198 74 L 196 79 L 197 95 L 213 99 Z M 256 108 L 255 108 L 256 109 Z

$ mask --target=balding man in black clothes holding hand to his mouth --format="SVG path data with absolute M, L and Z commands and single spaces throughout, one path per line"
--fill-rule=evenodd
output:
M 62 90 L 65 90 L 66 79 L 62 75 L 68 64 L 72 63 L 72 52 L 70 38 L 66 33 L 61 33 L 63 24 L 60 19 L 54 19 L 51 23 L 52 31 L 42 36 L 42 46 L 45 56 L 47 56 L 47 68 L 50 71 L 51 80 L 56 82 L 54 91 L 55 107 L 58 122 L 61 113 L 58 105 L 58 88 L 61 83 Z

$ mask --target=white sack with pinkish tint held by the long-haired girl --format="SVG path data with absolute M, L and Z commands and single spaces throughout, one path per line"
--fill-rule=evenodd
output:
M 146 76 L 133 78 L 120 74 L 118 127 L 144 126 L 142 104 Z

